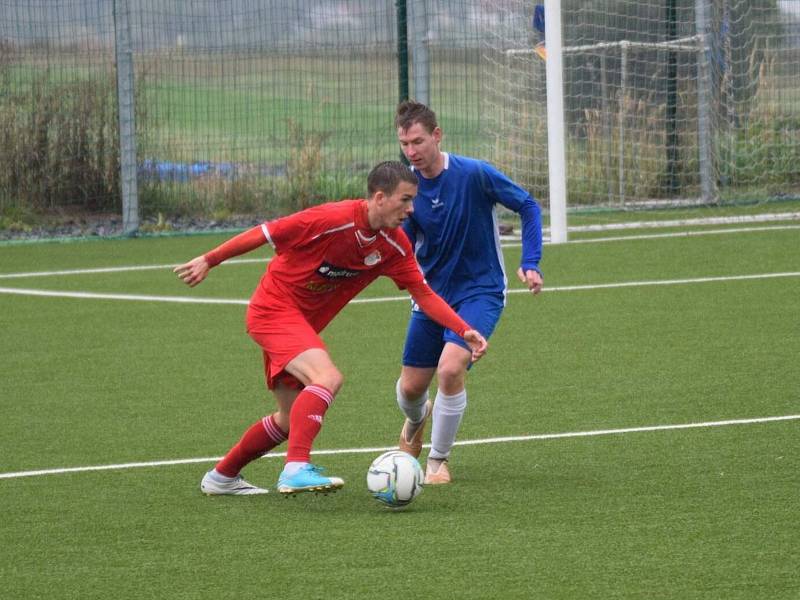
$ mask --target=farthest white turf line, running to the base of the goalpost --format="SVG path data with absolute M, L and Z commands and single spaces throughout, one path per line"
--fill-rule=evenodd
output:
M 800 215 L 800 213 L 797 213 Z M 593 226 L 592 226 L 593 227 Z M 612 227 L 615 229 L 622 229 L 621 227 Z M 702 235 L 721 235 L 726 233 L 752 233 L 759 231 L 776 231 L 786 229 L 800 229 L 800 225 L 776 225 L 768 227 L 738 227 L 735 229 L 707 229 L 705 231 L 678 231 L 672 233 L 651 233 L 642 235 L 620 235 L 614 237 L 603 238 L 584 238 L 578 240 L 568 240 L 567 244 L 595 244 L 602 242 L 624 242 L 628 240 L 652 240 L 660 238 L 678 238 L 678 237 L 697 237 Z M 573 231 L 570 228 L 570 231 Z M 597 231 L 603 231 L 598 229 Z M 503 248 L 519 248 L 522 243 L 518 237 L 515 236 L 501 236 Z M 549 240 L 544 241 L 545 245 L 551 245 Z M 234 258 L 226 260 L 222 265 L 236 265 L 236 264 L 252 264 L 252 263 L 268 263 L 272 260 L 271 257 L 264 258 Z M 121 267 L 96 267 L 88 269 L 65 269 L 60 271 L 28 271 L 23 273 L 0 273 L 0 279 L 23 279 L 30 277 L 58 277 L 63 275 L 92 275 L 102 273 L 124 273 L 130 271 L 158 271 L 161 269 L 174 269 L 174 265 L 132 265 Z

